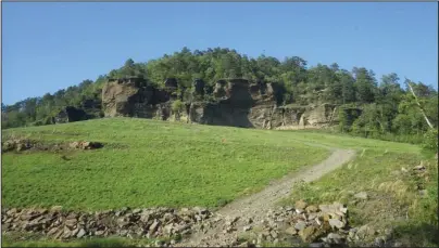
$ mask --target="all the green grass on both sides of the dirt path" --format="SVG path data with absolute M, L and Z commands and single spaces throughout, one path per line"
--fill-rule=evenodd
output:
M 292 195 L 279 204 L 290 205 L 300 198 L 314 204 L 339 200 L 348 204 L 352 224 L 374 222 L 382 229 L 396 225 L 397 236 L 406 235 L 425 246 L 436 244 L 428 237 L 435 224 L 437 231 L 437 164 L 416 145 L 310 130 L 238 129 L 131 118 L 10 129 L 2 134 L 3 140 L 86 140 L 105 145 L 96 151 L 58 154 L 2 154 L 2 204 L 8 207 L 215 207 L 325 159 L 330 153 L 328 147 L 353 148 L 358 151 L 353 161 L 316 182 L 296 185 Z M 68 160 L 62 159 L 63 155 Z M 427 181 L 401 173 L 402 167 L 410 170 L 421 160 L 429 171 Z M 428 192 L 424 197 L 415 188 L 419 182 Z M 365 203 L 352 197 L 361 191 L 369 195 Z M 410 214 L 410 221 L 396 223 L 401 214 Z M 7 238 L 10 240 L 3 245 L 35 245 Z M 112 246 L 121 240 L 131 244 L 125 239 L 91 244 Z M 37 245 L 60 244 L 47 240 Z

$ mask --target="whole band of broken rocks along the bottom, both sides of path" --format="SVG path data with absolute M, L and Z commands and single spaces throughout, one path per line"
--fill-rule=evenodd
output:
M 261 247 L 265 244 L 331 247 L 362 244 L 376 237 L 368 225 L 350 227 L 348 208 L 340 203 L 308 205 L 303 200 L 294 207 L 268 209 L 264 216 L 223 217 L 208 209 L 149 208 L 108 210 L 98 212 L 62 211 L 51 209 L 7 209 L 1 212 L 3 232 L 30 232 L 53 239 L 121 236 L 128 238 L 164 238 L 155 246 L 179 246 L 191 234 L 208 234 L 198 246 Z M 364 244 L 363 244 L 364 245 Z M 367 244 L 366 244 L 367 245 Z M 368 244 L 369 245 L 369 244 Z M 373 246 L 382 247 L 387 238 L 379 237 Z

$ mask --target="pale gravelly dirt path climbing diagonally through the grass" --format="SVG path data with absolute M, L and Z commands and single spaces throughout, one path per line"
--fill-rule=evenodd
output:
M 179 247 L 195 246 L 226 246 L 230 245 L 237 238 L 237 233 L 242 231 L 247 225 L 246 220 L 251 218 L 254 222 L 260 222 L 266 216 L 268 209 L 273 209 L 275 204 L 291 193 L 292 184 L 299 181 L 311 182 L 317 180 L 322 175 L 337 169 L 343 164 L 351 160 L 355 155 L 352 149 L 333 149 L 333 154 L 324 161 L 313 167 L 308 167 L 300 172 L 288 174 L 283 179 L 271 183 L 263 191 L 251 196 L 237 199 L 231 204 L 220 209 L 216 213 L 221 218 L 220 221 L 213 223 L 213 226 L 204 232 L 195 233 L 191 237 L 178 244 Z M 238 232 L 224 233 L 225 219 L 239 218 L 235 226 Z

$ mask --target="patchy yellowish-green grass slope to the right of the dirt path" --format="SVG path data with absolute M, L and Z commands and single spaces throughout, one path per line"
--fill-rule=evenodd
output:
M 385 230 L 392 230 L 392 238 L 404 247 L 439 245 L 438 161 L 431 154 L 404 143 L 321 132 L 296 134 L 319 144 L 356 147 L 359 153 L 354 160 L 333 173 L 312 183 L 294 185 L 291 196 L 280 205 L 293 205 L 298 199 L 317 205 L 341 201 L 350 210 L 349 221 L 353 226 L 367 224 L 380 230 L 381 235 Z M 426 167 L 422 175 L 412 170 L 418 165 Z M 425 194 L 419 194 L 419 190 L 426 190 Z M 368 199 L 355 199 L 354 194 L 359 192 L 366 192 Z

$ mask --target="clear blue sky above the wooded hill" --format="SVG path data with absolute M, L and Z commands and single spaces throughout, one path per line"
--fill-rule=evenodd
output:
M 223 47 L 438 84 L 438 3 L 3 2 L 2 102 L 77 84 L 131 57 Z M 401 80 L 402 81 L 402 80 Z

